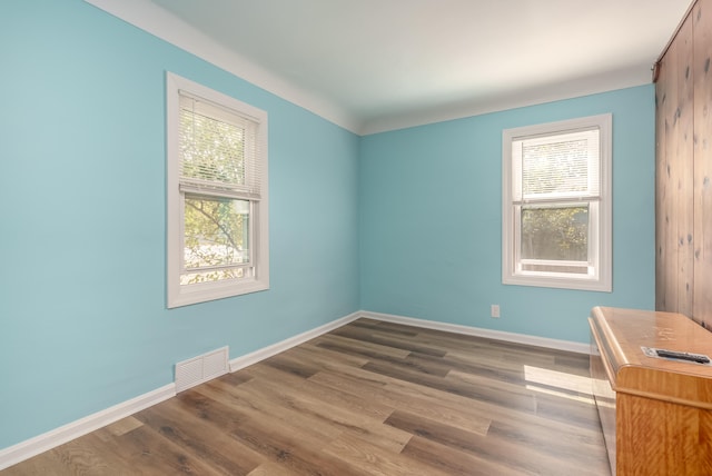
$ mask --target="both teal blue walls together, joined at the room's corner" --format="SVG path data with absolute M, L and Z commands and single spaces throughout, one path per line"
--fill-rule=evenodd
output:
M 2 2 L 0 44 L 0 448 L 358 309 L 586 341 L 653 306 L 652 87 L 358 138 L 80 0 Z M 268 291 L 166 309 L 166 70 L 269 113 Z M 502 129 L 602 112 L 614 292 L 502 286 Z

